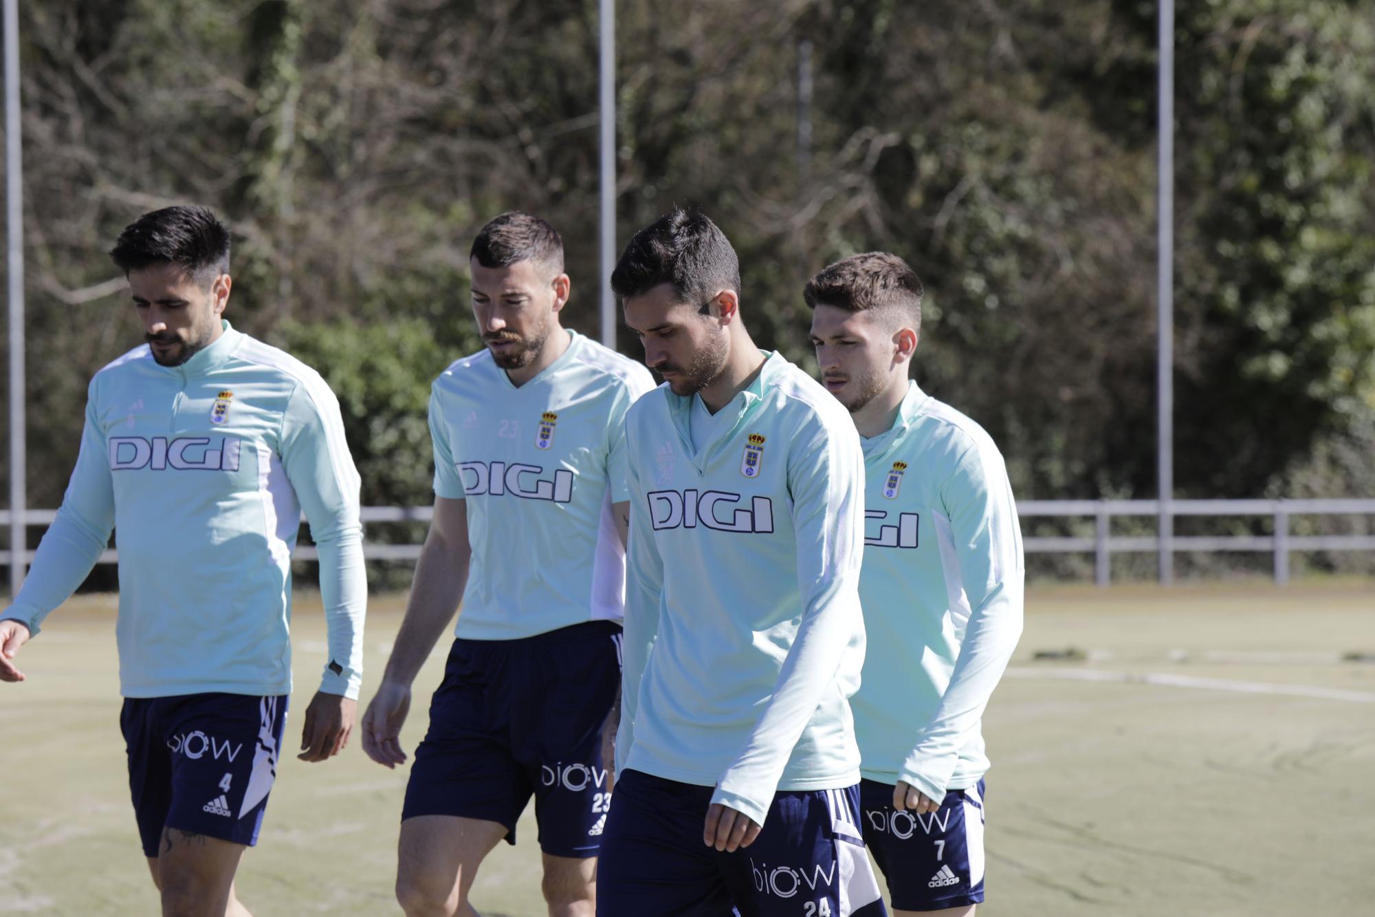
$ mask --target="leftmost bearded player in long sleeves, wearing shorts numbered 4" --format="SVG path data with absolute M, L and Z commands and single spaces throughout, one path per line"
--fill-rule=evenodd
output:
M 353 726 L 367 584 L 359 478 L 309 366 L 234 330 L 230 234 L 201 207 L 140 216 L 110 252 L 146 341 L 91 380 L 72 482 L 14 604 L 0 679 L 120 534 L 120 726 L 168 914 L 248 914 L 234 891 L 276 777 L 292 693 L 292 551 L 319 551 L 329 662 L 301 759 Z

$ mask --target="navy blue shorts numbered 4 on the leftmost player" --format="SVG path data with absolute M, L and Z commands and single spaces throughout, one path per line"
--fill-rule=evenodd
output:
M 252 847 L 276 779 L 283 697 L 131 697 L 120 712 L 144 856 L 162 828 Z

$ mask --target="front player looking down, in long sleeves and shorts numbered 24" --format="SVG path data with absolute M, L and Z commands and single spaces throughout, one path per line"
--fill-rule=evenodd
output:
M 626 420 L 626 665 L 598 914 L 883 914 L 847 697 L 864 660 L 862 456 L 817 383 L 755 347 L 700 212 L 612 274 L 667 381 Z

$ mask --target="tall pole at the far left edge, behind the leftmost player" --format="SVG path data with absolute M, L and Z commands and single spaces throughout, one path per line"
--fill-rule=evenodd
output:
M 23 585 L 29 547 L 23 417 L 23 158 L 19 146 L 19 10 L 4 0 L 6 237 L 10 273 L 10 595 Z

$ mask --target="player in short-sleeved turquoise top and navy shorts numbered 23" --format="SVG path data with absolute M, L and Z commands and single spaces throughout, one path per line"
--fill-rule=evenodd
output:
M 474 914 L 473 877 L 516 843 L 534 796 L 549 913 L 590 917 L 619 716 L 623 419 L 653 380 L 560 324 L 571 281 L 544 220 L 495 218 L 469 267 L 485 348 L 434 380 L 434 516 L 363 748 L 406 761 L 411 684 L 462 599 L 406 788 L 397 899 L 412 916 Z

